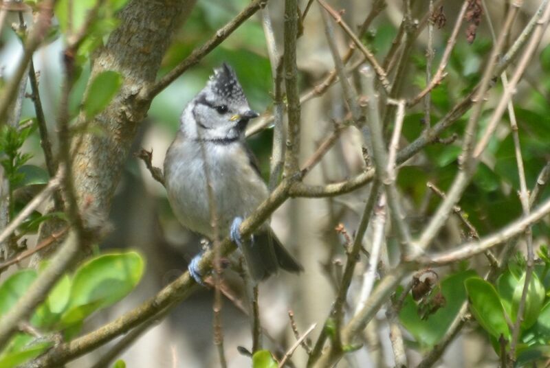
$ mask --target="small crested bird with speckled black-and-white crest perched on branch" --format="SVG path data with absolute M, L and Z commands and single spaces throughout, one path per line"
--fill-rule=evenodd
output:
M 184 108 L 164 159 L 166 192 L 177 220 L 213 240 L 210 211 L 211 205 L 215 206 L 218 234 L 229 235 L 236 243 L 254 281 L 266 279 L 279 268 L 303 271 L 267 222 L 250 239 L 243 240 L 239 232 L 243 218 L 269 196 L 256 157 L 245 142 L 245 128 L 258 116 L 234 69 L 223 62 Z M 188 270 L 202 284 L 203 275 L 197 268 L 200 257 L 199 253 L 192 259 Z

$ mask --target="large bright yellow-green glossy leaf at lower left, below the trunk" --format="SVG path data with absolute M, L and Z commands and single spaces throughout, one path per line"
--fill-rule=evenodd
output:
M 74 274 L 63 323 L 74 323 L 119 301 L 133 290 L 143 271 L 144 261 L 136 252 L 100 255 L 89 260 Z

